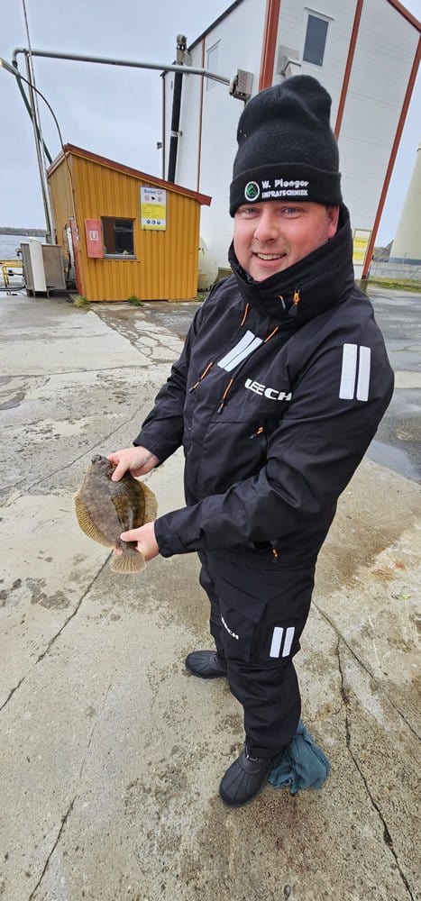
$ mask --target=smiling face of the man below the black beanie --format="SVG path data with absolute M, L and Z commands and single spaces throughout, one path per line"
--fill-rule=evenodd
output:
M 265 200 L 244 204 L 233 220 L 233 247 L 255 281 L 307 257 L 336 233 L 339 206 Z

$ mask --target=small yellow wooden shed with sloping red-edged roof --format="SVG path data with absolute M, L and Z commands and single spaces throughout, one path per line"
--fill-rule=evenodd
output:
M 90 301 L 197 296 L 200 206 L 211 198 L 66 144 L 48 173 L 56 241 Z

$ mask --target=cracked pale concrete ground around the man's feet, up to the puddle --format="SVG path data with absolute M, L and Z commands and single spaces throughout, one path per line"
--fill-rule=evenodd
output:
M 148 307 L 123 319 L 0 298 L 0 898 L 420 898 L 421 487 L 365 460 L 320 555 L 297 669 L 325 787 L 228 810 L 241 710 L 183 666 L 208 646 L 195 555 L 114 575 L 73 513 L 91 455 L 131 443 L 181 347 Z M 161 513 L 181 469 L 148 477 Z

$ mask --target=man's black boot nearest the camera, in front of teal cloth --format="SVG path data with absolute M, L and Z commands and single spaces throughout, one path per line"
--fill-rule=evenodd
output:
M 277 757 L 278 752 L 274 757 L 252 757 L 247 746 L 244 746 L 240 757 L 226 770 L 219 786 L 224 804 L 241 807 L 260 795 Z

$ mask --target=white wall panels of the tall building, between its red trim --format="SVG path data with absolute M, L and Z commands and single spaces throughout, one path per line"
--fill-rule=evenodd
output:
M 332 96 L 334 128 L 343 87 L 356 0 L 318 0 L 317 4 L 281 0 L 278 47 L 296 50 L 300 72 L 317 77 Z M 243 0 L 222 22 L 206 34 L 206 50 L 219 41 L 218 71 L 233 74 L 236 68 L 253 73 L 253 94 L 259 86 L 266 2 Z M 325 57 L 321 67 L 303 61 L 307 14 L 321 14 L 329 22 Z M 380 202 L 392 144 L 398 127 L 407 83 L 416 52 L 418 33 L 387 0 L 365 0 L 355 47 L 348 94 L 339 135 L 343 197 L 349 206 L 352 227 L 371 230 Z M 202 65 L 202 41 L 193 47 L 195 65 Z M 205 57 L 206 65 L 206 57 Z M 190 76 L 188 82 L 194 77 Z M 184 79 L 187 81 L 187 79 Z M 197 79 L 198 80 L 198 79 Z M 275 59 L 273 83 L 284 80 Z M 201 235 L 219 266 L 226 265 L 232 222 L 227 214 L 235 134 L 243 104 L 228 95 L 224 86 L 204 91 L 200 183 L 197 186 L 197 88 L 185 85 L 178 148 L 177 180 L 213 196 L 201 217 Z M 193 135 L 193 137 L 192 137 Z M 356 276 L 362 267 L 356 268 Z

